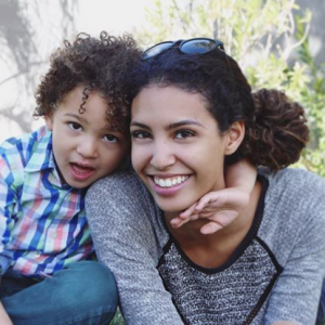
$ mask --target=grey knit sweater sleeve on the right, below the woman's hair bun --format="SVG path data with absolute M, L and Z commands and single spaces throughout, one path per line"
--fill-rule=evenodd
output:
M 315 324 L 325 271 L 325 182 L 287 169 L 271 181 L 260 235 L 283 266 L 264 324 Z

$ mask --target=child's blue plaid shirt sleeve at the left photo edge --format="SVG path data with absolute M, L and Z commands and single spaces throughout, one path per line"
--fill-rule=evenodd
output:
M 16 192 L 13 183 L 11 170 L 0 155 L 0 266 L 1 274 L 8 270 L 13 252 L 5 250 L 5 245 L 10 242 L 11 232 L 14 226 L 13 211 L 16 205 Z

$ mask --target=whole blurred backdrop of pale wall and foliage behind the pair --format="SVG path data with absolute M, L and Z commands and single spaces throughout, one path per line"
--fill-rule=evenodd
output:
M 51 52 L 84 31 L 161 40 L 219 38 L 253 89 L 303 104 L 311 141 L 297 166 L 325 177 L 324 0 L 0 0 L 0 142 L 30 132 Z

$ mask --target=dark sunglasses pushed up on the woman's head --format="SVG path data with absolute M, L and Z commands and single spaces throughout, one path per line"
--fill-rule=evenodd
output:
M 142 60 L 148 60 L 151 57 L 157 56 L 164 51 L 178 47 L 179 50 L 184 54 L 205 54 L 209 53 L 216 48 L 224 51 L 223 42 L 221 42 L 218 39 L 211 39 L 211 38 L 192 38 L 187 40 L 178 40 L 176 42 L 173 41 L 165 41 L 161 43 L 158 43 L 156 46 L 153 46 L 145 50 L 142 53 L 141 58 Z

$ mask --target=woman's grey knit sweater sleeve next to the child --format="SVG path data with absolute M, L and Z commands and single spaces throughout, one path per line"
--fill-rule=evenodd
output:
M 158 210 L 136 176 L 119 172 L 96 182 L 86 210 L 99 260 L 116 278 L 126 323 L 183 324 L 157 271 Z

